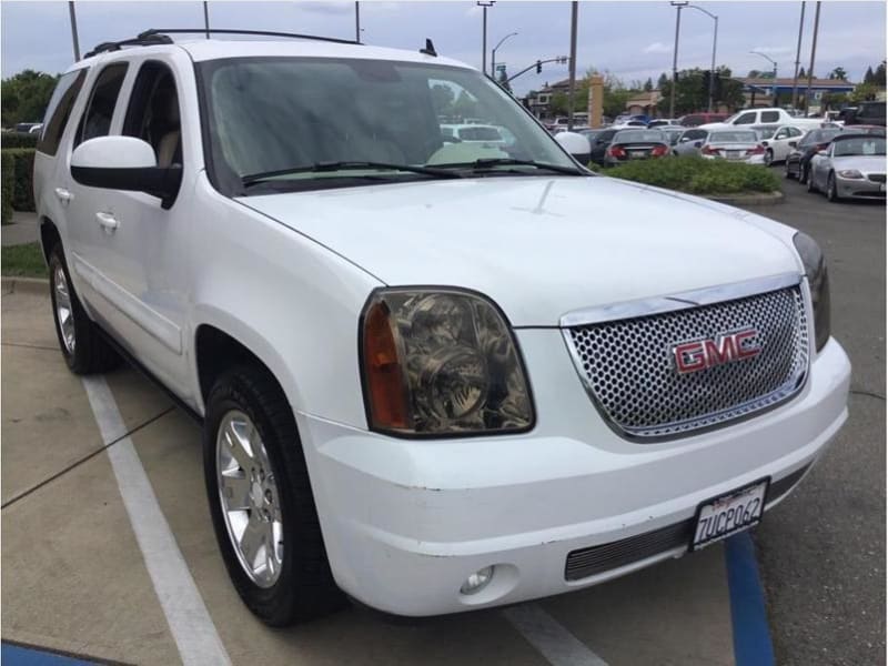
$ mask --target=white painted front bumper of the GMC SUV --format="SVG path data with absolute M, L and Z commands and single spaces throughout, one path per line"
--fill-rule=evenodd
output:
M 847 417 L 850 364 L 830 340 L 806 386 L 780 407 L 679 441 L 633 444 L 601 421 L 578 379 L 576 391 L 564 390 L 576 372 L 558 331 L 518 337 L 534 379 L 531 433 L 400 440 L 297 413 L 333 575 L 360 602 L 405 616 L 456 613 L 679 556 L 687 545 L 669 542 L 579 579 L 565 573 L 573 551 L 686 523 L 700 502 L 764 476 L 773 485 L 800 477 Z M 768 508 L 779 500 L 771 493 Z M 466 577 L 490 565 L 492 582 L 461 594 Z

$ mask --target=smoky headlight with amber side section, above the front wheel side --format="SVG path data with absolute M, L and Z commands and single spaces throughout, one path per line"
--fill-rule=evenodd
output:
M 503 314 L 447 289 L 381 289 L 361 324 L 371 428 L 405 435 L 518 432 L 533 425 L 527 377 Z

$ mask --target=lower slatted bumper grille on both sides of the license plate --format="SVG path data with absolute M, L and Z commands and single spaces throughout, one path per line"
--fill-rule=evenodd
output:
M 768 486 L 765 505 L 776 502 L 786 495 L 805 476 L 808 465 L 804 465 L 775 481 Z M 673 523 L 659 529 L 653 529 L 609 544 L 601 544 L 589 548 L 572 551 L 564 564 L 565 581 L 581 581 L 589 576 L 603 574 L 610 569 L 627 566 L 660 553 L 690 546 L 694 535 L 694 518 Z

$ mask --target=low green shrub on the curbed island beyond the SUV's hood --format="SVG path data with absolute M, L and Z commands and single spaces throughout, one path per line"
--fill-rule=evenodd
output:
M 624 180 L 689 194 L 779 192 L 780 179 L 767 167 L 703 158 L 664 158 L 627 162 L 605 171 Z

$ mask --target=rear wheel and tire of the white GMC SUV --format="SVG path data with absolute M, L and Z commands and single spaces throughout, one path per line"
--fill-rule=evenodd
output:
M 114 369 L 121 359 L 83 310 L 61 243 L 50 250 L 48 263 L 52 320 L 69 370 L 74 374 L 92 374 Z

